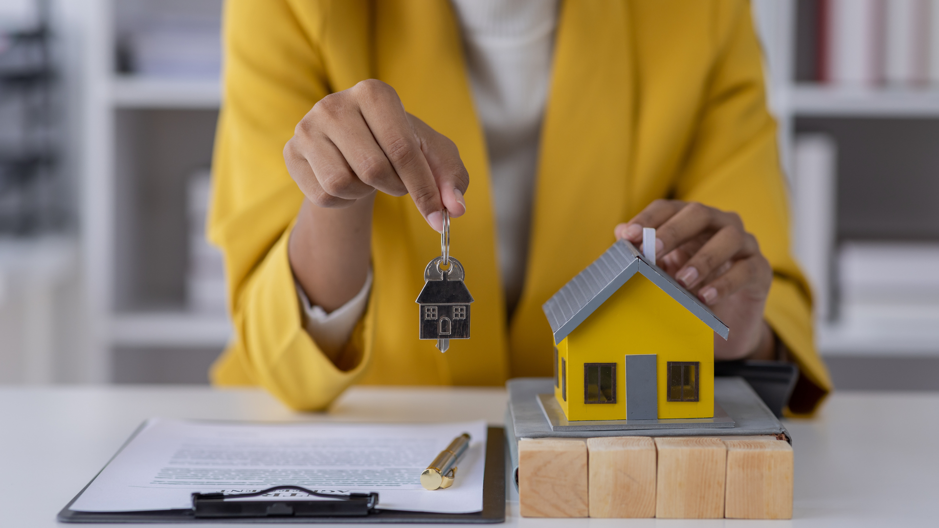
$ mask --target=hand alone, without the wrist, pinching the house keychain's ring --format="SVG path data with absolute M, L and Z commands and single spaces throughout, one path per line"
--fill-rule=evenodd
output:
M 469 174 L 454 142 L 405 112 L 394 88 L 369 79 L 326 96 L 284 148 L 287 171 L 321 208 L 346 208 L 376 190 L 410 194 L 431 227 L 466 212 Z

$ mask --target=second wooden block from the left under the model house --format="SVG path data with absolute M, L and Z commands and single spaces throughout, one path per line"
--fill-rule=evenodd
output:
M 590 516 L 655 517 L 655 443 L 647 436 L 592 438 Z

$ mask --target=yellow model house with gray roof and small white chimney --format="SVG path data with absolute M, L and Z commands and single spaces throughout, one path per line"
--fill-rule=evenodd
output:
M 644 231 L 645 255 L 617 241 L 543 306 L 569 421 L 714 417 L 715 334 L 729 330 L 655 266 Z

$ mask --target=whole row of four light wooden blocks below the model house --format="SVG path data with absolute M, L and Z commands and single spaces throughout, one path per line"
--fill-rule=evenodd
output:
M 791 519 L 793 447 L 775 436 L 518 443 L 523 517 Z

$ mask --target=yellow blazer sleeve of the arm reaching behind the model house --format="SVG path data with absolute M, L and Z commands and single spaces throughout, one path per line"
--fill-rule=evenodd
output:
M 790 253 L 787 189 L 776 122 L 766 108 L 760 44 L 746 1 L 714 5 L 716 60 L 675 195 L 736 211 L 760 242 L 774 272 L 764 318 L 801 371 L 789 412 L 808 414 L 832 384 L 813 344 L 811 292 Z

